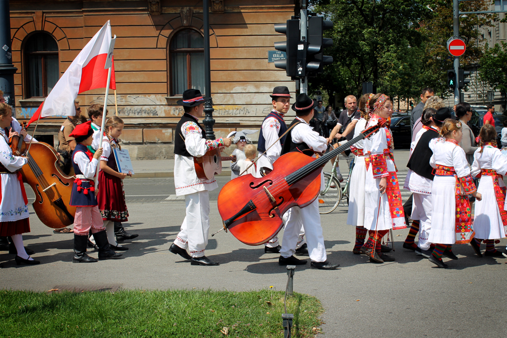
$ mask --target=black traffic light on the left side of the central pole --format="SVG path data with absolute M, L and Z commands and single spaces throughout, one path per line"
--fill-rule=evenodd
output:
M 298 44 L 300 42 L 299 19 L 287 20 L 286 23 L 275 24 L 275 31 L 285 34 L 286 40 L 275 42 L 275 49 L 285 52 L 285 60 L 275 60 L 275 67 L 286 70 L 287 76 L 295 77 Z

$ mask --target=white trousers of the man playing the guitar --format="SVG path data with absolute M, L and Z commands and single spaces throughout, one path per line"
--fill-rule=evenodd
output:
M 192 257 L 204 256 L 209 232 L 209 194 L 207 190 L 185 195 L 187 216 L 174 244 L 189 249 Z

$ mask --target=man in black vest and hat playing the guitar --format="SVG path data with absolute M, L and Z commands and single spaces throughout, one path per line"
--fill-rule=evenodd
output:
M 194 166 L 194 157 L 207 151 L 229 147 L 231 139 L 206 140 L 206 133 L 199 124 L 204 115 L 203 97 L 197 89 L 187 89 L 177 104 L 183 106 L 185 114 L 176 125 L 174 140 L 174 185 L 176 195 L 185 196 L 187 215 L 169 251 L 189 259 L 192 265 L 219 265 L 204 255 L 208 243 L 209 195 L 218 187 L 215 179 L 200 180 Z M 189 248 L 190 255 L 187 252 Z

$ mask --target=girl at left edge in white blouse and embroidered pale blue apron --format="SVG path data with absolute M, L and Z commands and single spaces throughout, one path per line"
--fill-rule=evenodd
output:
M 30 232 L 28 200 L 19 172 L 28 157 L 13 156 L 9 147 L 12 111 L 6 103 L 0 103 L 0 236 L 11 236 L 17 251 L 16 264 L 39 264 L 25 251 L 22 233 Z M 1 264 L 0 264 L 1 265 Z

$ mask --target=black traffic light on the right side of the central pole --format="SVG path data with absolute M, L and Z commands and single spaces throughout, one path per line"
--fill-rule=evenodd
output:
M 306 76 L 322 73 L 324 65 L 333 63 L 333 57 L 324 55 L 324 47 L 333 46 L 333 39 L 322 36 L 325 29 L 333 28 L 333 21 L 324 20 L 321 16 L 308 17 L 308 43 L 306 50 Z

